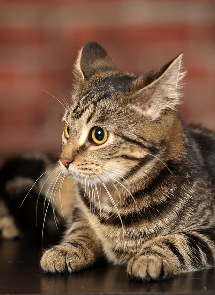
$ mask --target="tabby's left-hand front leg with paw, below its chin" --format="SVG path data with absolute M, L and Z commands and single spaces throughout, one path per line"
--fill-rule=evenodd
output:
M 75 222 L 63 241 L 47 250 L 40 261 L 45 272 L 76 272 L 94 264 L 100 256 L 100 244 L 85 222 Z

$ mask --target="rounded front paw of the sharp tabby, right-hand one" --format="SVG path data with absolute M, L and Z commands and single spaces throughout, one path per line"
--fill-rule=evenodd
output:
M 136 255 L 127 266 L 129 278 L 143 282 L 169 279 L 173 276 L 172 270 L 166 259 L 153 254 Z

